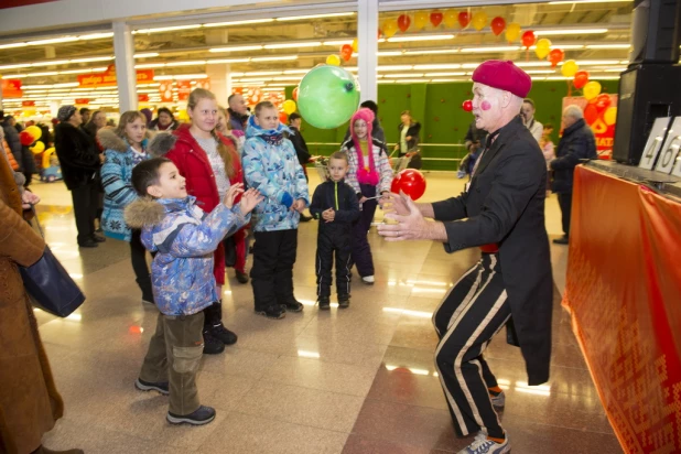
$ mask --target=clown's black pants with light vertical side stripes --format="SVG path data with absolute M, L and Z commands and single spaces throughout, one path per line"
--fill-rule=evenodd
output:
M 495 253 L 483 253 L 433 314 L 440 337 L 435 366 L 458 435 L 485 430 L 504 437 L 488 388 L 497 386 L 483 353 L 510 317 Z

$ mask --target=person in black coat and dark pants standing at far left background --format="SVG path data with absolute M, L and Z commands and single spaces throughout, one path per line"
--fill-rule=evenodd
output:
M 62 106 L 60 123 L 54 129 L 56 149 L 64 183 L 71 191 L 78 229 L 78 246 L 96 248 L 104 237 L 95 234 L 95 217 L 99 197 L 97 174 L 102 159 L 95 142 L 80 129 L 83 119 L 74 106 Z

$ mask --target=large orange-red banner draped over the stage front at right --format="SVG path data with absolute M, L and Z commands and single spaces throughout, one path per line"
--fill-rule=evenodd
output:
M 563 305 L 626 453 L 681 452 L 679 238 L 681 204 L 576 167 Z

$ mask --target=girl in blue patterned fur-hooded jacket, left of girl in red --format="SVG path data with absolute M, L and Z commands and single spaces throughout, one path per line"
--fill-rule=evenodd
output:
M 101 229 L 107 237 L 130 244 L 132 270 L 142 290 L 142 302 L 153 303 L 147 250 L 140 241 L 140 230 L 131 229 L 123 219 L 126 206 L 139 198 L 130 183 L 132 167 L 150 158 L 147 153 L 147 118 L 142 112 L 129 110 L 120 116 L 118 128 L 100 129 L 97 139 L 105 149 L 100 170 L 105 193 Z

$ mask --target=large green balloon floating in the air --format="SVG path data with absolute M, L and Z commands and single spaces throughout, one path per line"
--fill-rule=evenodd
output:
M 298 110 L 315 128 L 339 127 L 353 117 L 357 106 L 359 85 L 339 66 L 312 68 L 298 87 Z

